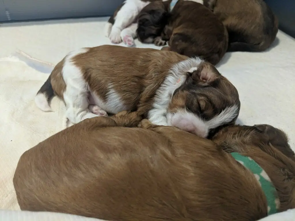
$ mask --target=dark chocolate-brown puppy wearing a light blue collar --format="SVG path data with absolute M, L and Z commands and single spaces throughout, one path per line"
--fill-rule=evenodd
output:
M 216 65 L 228 46 L 227 30 L 222 22 L 199 0 L 178 0 L 168 13 L 170 2 L 156 1 L 142 9 L 138 16 L 138 39 L 158 46 L 168 41 L 164 50 L 199 56 Z

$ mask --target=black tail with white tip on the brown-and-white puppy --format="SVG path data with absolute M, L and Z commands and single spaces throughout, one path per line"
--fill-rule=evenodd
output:
M 50 101 L 55 96 L 52 85 L 51 85 L 51 74 L 49 75 L 48 79 L 42 85 L 40 90 L 37 92 L 35 97 L 35 103 L 38 108 L 45 112 L 50 112 Z

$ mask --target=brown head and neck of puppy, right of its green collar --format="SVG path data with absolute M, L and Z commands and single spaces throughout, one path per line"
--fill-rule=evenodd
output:
M 286 134 L 270 125 L 222 128 L 212 139 L 227 153 L 238 152 L 255 160 L 278 192 L 279 212 L 295 207 L 294 152 Z

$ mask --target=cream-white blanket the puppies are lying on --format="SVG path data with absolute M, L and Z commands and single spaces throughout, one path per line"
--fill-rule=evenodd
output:
M 21 35 L 26 41 L 21 47 L 19 41 L 15 40 L 15 45 L 19 49 L 32 57 L 56 64 L 70 50 L 109 42 L 107 38 L 102 37 L 102 33 L 88 32 L 94 29 L 103 30 L 104 22 L 92 21 L 84 24 L 83 21 L 82 19 L 76 23 L 58 25 L 44 23 L 40 26 L 24 26 L 17 29 L 10 27 L 9 30 L 1 27 L 1 47 L 6 50 L 6 45 L 14 42 L 10 36 L 14 28 L 14 34 Z M 3 34 L 9 41 L 5 40 L 6 37 L 4 39 Z M 34 41 L 31 40 L 32 35 L 35 37 Z M 47 37 L 48 35 L 53 37 Z M 139 42 L 136 44 L 137 47 L 154 47 Z M 268 123 L 282 128 L 289 135 L 290 144 L 294 148 L 295 41 L 279 32 L 274 45 L 275 47 L 263 53 L 227 53 L 217 69 L 239 91 L 241 110 L 238 123 L 248 125 Z M 7 49 L 11 50 L 12 47 Z M 48 74 L 29 67 L 16 57 L 0 59 L 0 208 L 2 209 L 19 209 L 12 178 L 21 154 L 64 128 L 65 108 L 62 102 L 54 98 L 52 101 L 54 112 L 50 113 L 42 112 L 34 103 L 35 94 L 47 77 Z

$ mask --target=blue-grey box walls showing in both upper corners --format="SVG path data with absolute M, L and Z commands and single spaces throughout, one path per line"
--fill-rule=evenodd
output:
M 110 16 L 124 0 L 0 0 L 0 22 Z M 295 37 L 295 0 L 265 0 Z

